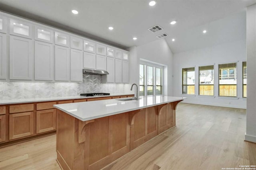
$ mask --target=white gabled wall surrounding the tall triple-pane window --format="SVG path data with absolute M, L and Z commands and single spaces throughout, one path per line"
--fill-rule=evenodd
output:
M 134 69 L 133 72 L 134 75 L 136 75 L 137 77 L 137 83 L 139 83 L 138 64 L 140 62 L 140 59 L 145 59 L 148 61 L 153 61 L 155 63 L 164 64 L 166 66 L 164 67 L 163 94 L 172 96 L 172 51 L 170 50 L 170 47 L 166 43 L 165 39 L 159 39 L 157 41 L 153 41 L 145 45 L 140 45 L 136 47 L 136 51 L 136 60 L 134 60 L 134 63 L 137 64 L 137 67 L 130 67 L 130 70 L 132 73 L 132 70 Z

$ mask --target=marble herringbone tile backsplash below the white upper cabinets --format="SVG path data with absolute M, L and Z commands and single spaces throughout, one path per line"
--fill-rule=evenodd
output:
M 101 78 L 98 75 L 83 74 L 83 83 L 0 82 L 0 100 L 78 96 L 80 93 L 132 92 L 130 84 L 102 84 Z

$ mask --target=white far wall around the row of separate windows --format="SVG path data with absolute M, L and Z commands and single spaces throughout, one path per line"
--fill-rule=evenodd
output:
M 218 97 L 218 64 L 237 62 L 238 98 Z M 173 57 L 173 92 L 174 96 L 187 97 L 186 103 L 210 106 L 246 108 L 246 99 L 242 98 L 242 61 L 246 61 L 246 39 L 232 43 L 216 45 L 176 53 Z M 214 64 L 214 97 L 198 96 L 198 66 Z M 182 68 L 195 67 L 195 95 L 182 94 Z

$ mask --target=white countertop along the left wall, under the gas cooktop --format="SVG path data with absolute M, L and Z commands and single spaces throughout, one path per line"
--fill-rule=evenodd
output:
M 48 101 L 55 101 L 55 100 L 73 100 L 73 99 L 88 99 L 88 98 L 102 98 L 102 97 L 110 97 L 110 96 L 126 96 L 126 95 L 134 95 L 124 94 L 124 93 L 115 93 L 110 94 L 107 96 L 64 96 L 64 97 L 49 97 L 49 98 L 31 98 L 31 99 L 11 99 L 11 100 L 0 100 L 0 105 L 4 104 L 20 104 L 20 103 L 32 103 L 32 102 L 48 102 Z

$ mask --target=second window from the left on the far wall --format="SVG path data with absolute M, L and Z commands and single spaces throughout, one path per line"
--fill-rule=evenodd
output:
M 214 95 L 214 65 L 199 67 L 199 95 Z

